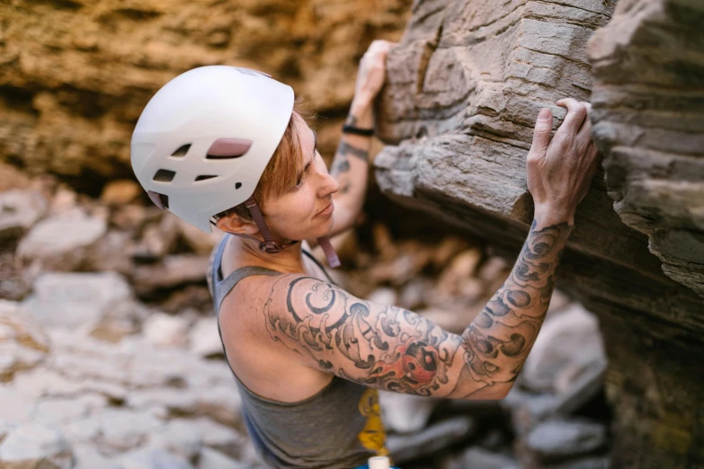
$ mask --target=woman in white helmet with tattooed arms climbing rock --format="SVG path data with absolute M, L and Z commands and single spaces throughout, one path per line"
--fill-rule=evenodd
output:
M 208 283 L 246 428 L 278 468 L 352 468 L 384 456 L 378 390 L 502 399 L 545 318 L 575 209 L 599 165 L 589 104 L 537 119 L 527 156 L 535 217 L 509 277 L 461 335 L 412 311 L 357 298 L 310 254 L 354 225 L 367 187 L 372 103 L 396 44 L 361 58 L 331 170 L 290 86 L 233 66 L 176 76 L 147 103 L 132 167 L 160 208 L 227 233 Z

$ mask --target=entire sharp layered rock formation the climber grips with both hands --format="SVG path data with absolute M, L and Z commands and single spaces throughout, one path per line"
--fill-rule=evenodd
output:
M 613 6 L 415 2 L 388 59 L 376 174 L 392 199 L 515 259 L 532 220 L 525 157 L 538 111 L 551 108 L 557 128 L 554 102 L 591 100 L 606 173 L 577 209 L 557 285 L 600 316 L 613 466 L 688 467 L 704 458 L 704 6 Z

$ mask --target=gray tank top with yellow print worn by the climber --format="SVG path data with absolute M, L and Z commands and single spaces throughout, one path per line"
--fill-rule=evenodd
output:
M 248 266 L 222 279 L 220 261 L 228 236 L 218 244 L 210 273 L 211 294 L 218 317 L 223 299 L 240 280 L 252 275 L 281 275 L 275 270 Z M 315 257 L 303 252 L 334 283 Z M 218 332 L 222 342 L 219 322 Z M 224 344 L 222 350 L 227 359 Z M 329 385 L 307 399 L 281 403 L 254 394 L 242 384 L 234 370 L 232 374 L 240 390 L 247 431 L 267 465 L 288 469 L 349 469 L 365 465 L 370 456 L 388 454 L 376 389 L 333 376 Z

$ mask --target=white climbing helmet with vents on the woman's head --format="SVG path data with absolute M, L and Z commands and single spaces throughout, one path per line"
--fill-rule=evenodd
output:
M 210 233 L 210 217 L 254 194 L 293 111 L 293 89 L 235 66 L 165 84 L 132 134 L 132 169 L 157 206 Z

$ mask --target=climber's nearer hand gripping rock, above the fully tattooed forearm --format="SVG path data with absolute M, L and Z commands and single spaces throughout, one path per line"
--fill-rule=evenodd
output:
M 552 112 L 540 111 L 526 162 L 528 190 L 536 217 L 548 215 L 574 223 L 577 205 L 584 199 L 599 169 L 601 157 L 592 142 L 589 102 L 566 98 L 557 102 L 567 115 L 550 140 Z

